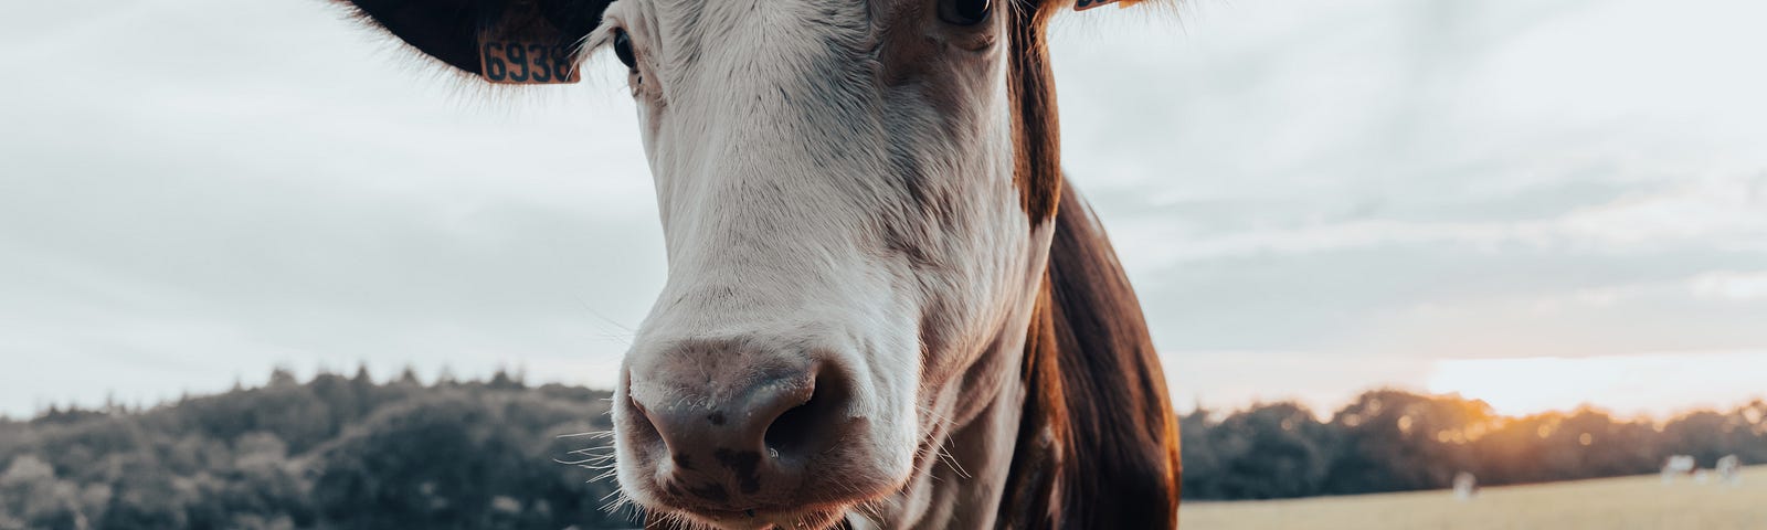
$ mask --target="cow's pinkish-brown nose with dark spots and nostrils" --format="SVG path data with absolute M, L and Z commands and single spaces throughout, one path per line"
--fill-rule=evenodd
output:
M 809 459 L 839 436 L 850 390 L 841 376 L 815 367 L 755 373 L 710 371 L 689 378 L 696 385 L 633 385 L 631 405 L 648 424 L 638 429 L 640 438 L 654 435 L 652 447 L 661 442 L 664 449 L 656 454 L 657 486 L 724 509 L 767 504 L 795 489 Z

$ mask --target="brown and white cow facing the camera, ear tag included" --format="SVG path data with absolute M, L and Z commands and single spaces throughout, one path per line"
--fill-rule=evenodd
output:
M 668 284 L 613 419 L 654 521 L 1177 525 L 1159 360 L 1060 168 L 1046 28 L 1111 0 L 348 4 L 488 81 L 627 67 Z

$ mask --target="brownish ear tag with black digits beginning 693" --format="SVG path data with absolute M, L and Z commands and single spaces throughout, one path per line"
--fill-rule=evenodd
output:
M 479 76 L 498 85 L 569 85 L 583 80 L 574 39 L 541 16 L 534 2 L 511 2 L 479 28 Z

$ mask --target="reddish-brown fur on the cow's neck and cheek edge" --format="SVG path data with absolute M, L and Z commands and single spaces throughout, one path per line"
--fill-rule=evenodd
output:
M 1141 306 L 1090 208 L 1064 186 L 1046 28 L 1073 2 L 1014 2 L 1011 97 L 1020 194 L 1053 216 L 1025 341 L 1023 420 L 1000 528 L 1173 528 L 1179 424 Z M 1058 208 L 1064 205 L 1066 208 Z

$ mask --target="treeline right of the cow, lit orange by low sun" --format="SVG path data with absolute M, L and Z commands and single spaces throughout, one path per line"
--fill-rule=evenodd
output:
M 1329 420 L 1295 403 L 1182 417 L 1184 498 L 1255 500 L 1654 473 L 1672 454 L 1710 468 L 1767 463 L 1767 401 L 1668 422 L 1599 410 L 1500 417 L 1483 401 L 1366 392 Z

